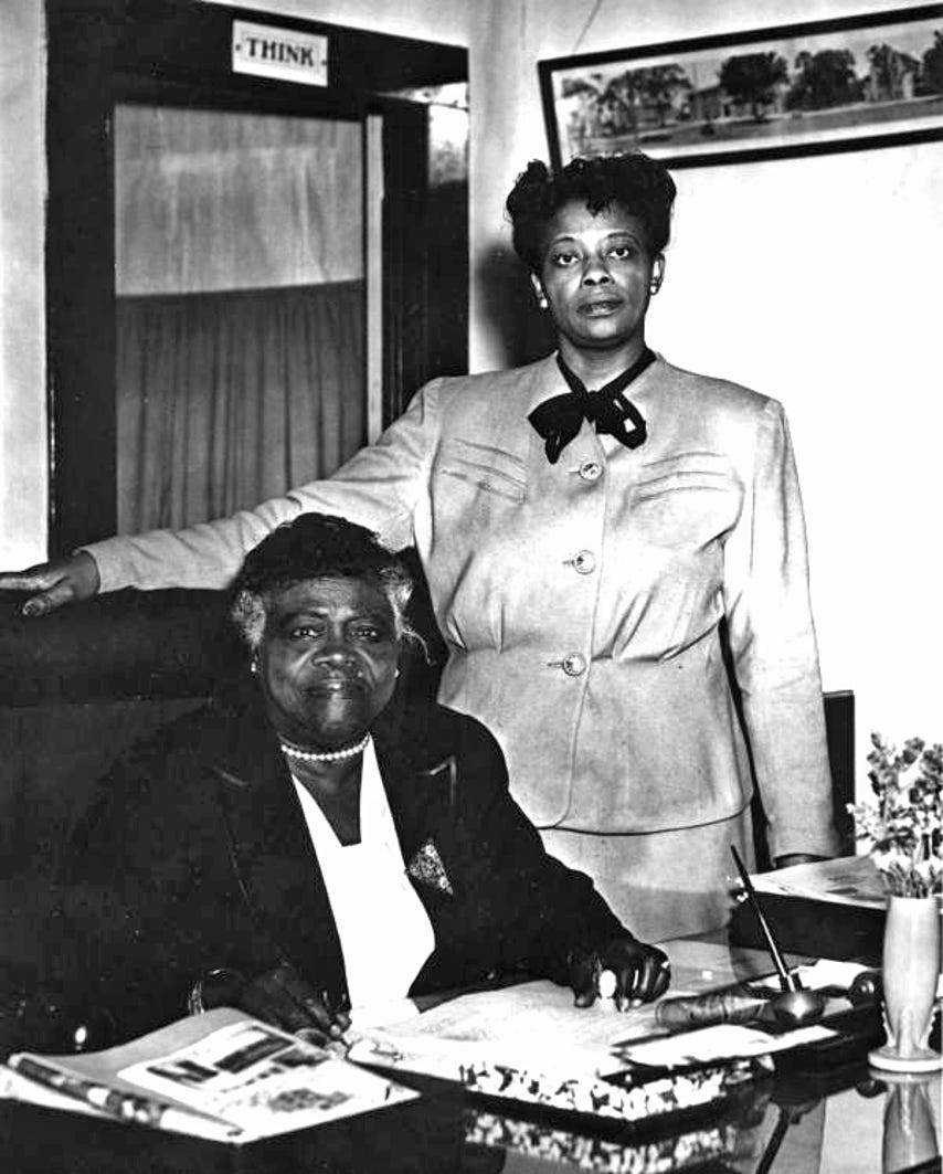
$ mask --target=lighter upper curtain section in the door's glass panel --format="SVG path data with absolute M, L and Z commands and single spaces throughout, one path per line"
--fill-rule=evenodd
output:
M 115 109 L 119 296 L 363 277 L 362 127 Z

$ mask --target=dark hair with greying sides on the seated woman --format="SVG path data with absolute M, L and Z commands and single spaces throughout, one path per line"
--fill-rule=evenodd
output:
M 230 588 L 230 619 L 249 648 L 265 632 L 274 595 L 309 579 L 366 579 L 386 596 L 396 635 L 425 647 L 406 619 L 412 579 L 364 526 L 334 514 L 304 513 L 283 522 L 245 556 Z

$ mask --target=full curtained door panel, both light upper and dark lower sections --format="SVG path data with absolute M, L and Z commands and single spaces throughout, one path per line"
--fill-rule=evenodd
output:
M 119 532 L 231 513 L 365 439 L 359 122 L 115 112 Z

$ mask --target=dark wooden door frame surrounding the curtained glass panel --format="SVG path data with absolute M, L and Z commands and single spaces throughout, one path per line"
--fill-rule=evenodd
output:
M 115 103 L 383 115 L 383 409 L 389 421 L 433 373 L 426 324 L 436 292 L 423 232 L 426 113 L 388 95 L 466 79 L 467 52 L 195 0 L 46 0 L 46 16 L 49 554 L 55 555 L 116 528 Z M 328 87 L 234 74 L 236 19 L 326 36 Z

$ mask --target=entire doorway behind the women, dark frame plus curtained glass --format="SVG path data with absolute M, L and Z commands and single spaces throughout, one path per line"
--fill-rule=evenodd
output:
M 397 96 L 464 49 L 191 0 L 47 16 L 50 554 L 329 475 L 465 370 L 466 193 L 440 215 Z M 235 73 L 236 19 L 323 36 L 328 85 Z

